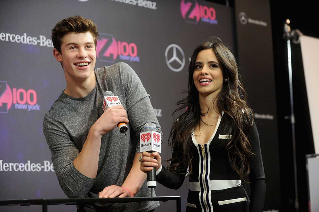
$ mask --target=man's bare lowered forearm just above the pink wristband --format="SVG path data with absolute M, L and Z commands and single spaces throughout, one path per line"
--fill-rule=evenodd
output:
M 146 179 L 146 174 L 140 169 L 140 162 L 138 161 L 140 155 L 142 155 L 142 153 L 135 154 L 131 171 L 122 185 L 123 187 L 130 189 L 134 195 L 142 187 Z

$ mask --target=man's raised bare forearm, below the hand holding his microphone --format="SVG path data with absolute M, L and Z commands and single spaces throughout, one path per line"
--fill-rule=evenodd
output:
M 95 178 L 97 174 L 102 137 L 94 130 L 93 126 L 86 137 L 81 152 L 73 161 L 75 168 L 89 178 Z

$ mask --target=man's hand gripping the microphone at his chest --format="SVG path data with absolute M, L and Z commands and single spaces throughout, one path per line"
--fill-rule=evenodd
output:
M 122 105 L 108 107 L 92 127 L 99 135 L 104 135 L 120 122 L 129 123 L 126 110 Z

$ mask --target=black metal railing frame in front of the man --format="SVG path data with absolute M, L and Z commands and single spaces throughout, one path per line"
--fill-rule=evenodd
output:
M 94 203 L 126 203 L 126 202 L 144 202 L 144 201 L 176 201 L 176 212 L 181 212 L 180 196 L 157 196 L 157 197 L 123 197 L 123 198 L 66 198 L 66 199 L 17 199 L 17 200 L 0 200 L 1 206 L 9 205 L 42 205 L 42 212 L 48 211 L 48 205 L 90 205 Z M 81 208 L 81 207 L 80 207 Z

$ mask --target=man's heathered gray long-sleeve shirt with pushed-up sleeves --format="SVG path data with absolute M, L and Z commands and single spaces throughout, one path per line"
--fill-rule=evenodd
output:
M 64 92 L 45 114 L 43 132 L 52 154 L 52 162 L 64 193 L 72 197 L 98 197 L 110 185 L 122 186 L 139 152 L 139 133 L 144 124 L 153 122 L 161 128 L 154 114 L 150 96 L 145 91 L 134 70 L 125 63 L 94 69 L 96 86 L 83 98 L 73 98 Z M 99 166 L 96 178 L 78 172 L 73 160 L 85 143 L 91 126 L 103 113 L 103 93 L 112 91 L 127 111 L 129 124 L 127 137 L 117 127 L 102 136 Z M 135 196 L 150 196 L 144 182 Z M 159 202 L 113 203 L 86 206 L 86 211 L 149 211 Z

